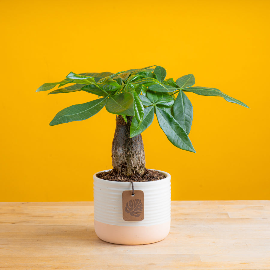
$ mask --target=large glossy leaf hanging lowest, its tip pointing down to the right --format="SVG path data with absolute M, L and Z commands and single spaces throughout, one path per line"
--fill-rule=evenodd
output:
M 168 140 L 176 147 L 187 150 L 190 152 L 195 152 L 195 149 L 190 142 L 187 133 L 184 129 L 179 125 L 179 123 L 167 112 L 159 109 L 155 106 L 156 115 L 158 118 L 158 124 L 161 129 L 166 134 Z

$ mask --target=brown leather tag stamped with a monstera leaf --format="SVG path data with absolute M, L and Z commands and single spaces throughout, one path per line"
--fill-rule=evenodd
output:
M 144 195 L 143 190 L 124 190 L 123 198 L 123 220 L 134 221 L 144 219 Z

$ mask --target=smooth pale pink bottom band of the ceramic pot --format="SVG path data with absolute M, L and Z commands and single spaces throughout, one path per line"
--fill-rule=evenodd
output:
M 170 231 L 170 221 L 151 226 L 117 226 L 94 220 L 95 232 L 106 242 L 122 245 L 151 244 L 163 240 Z

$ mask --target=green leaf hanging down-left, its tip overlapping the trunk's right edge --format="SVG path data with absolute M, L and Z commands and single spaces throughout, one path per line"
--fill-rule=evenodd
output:
M 144 109 L 144 115 L 143 115 L 143 120 L 141 124 L 139 125 L 138 121 L 136 120 L 135 117 L 132 118 L 131 126 L 130 126 L 130 137 L 135 137 L 142 133 L 143 131 L 148 128 L 154 119 L 154 106 L 152 107 L 147 107 Z

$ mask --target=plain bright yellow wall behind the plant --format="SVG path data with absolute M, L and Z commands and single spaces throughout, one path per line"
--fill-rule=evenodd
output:
M 196 154 L 173 146 L 155 119 L 146 167 L 172 176 L 173 200 L 270 199 L 269 1 L 1 1 L 0 201 L 93 200 L 92 175 L 112 168 L 115 116 L 49 126 L 96 96 L 35 93 L 70 72 L 159 64 L 193 73 L 246 103 L 187 93 Z

